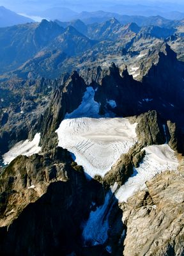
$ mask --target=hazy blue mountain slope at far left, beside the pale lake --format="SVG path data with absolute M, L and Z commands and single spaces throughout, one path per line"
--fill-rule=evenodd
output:
M 15 12 L 11 12 L 10 10 L 4 8 L 4 6 L 0 6 L 0 27 L 8 27 L 17 24 L 24 24 L 27 22 L 34 22 L 34 20 L 19 15 Z

